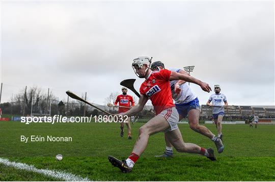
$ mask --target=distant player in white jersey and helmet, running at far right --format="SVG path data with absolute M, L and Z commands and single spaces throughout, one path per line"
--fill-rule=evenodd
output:
M 222 121 L 223 117 L 225 115 L 225 108 L 228 106 L 227 98 L 224 94 L 221 93 L 221 87 L 219 85 L 214 86 L 215 93 L 212 94 L 206 105 L 207 106 L 221 106 L 221 107 L 213 107 L 213 119 L 215 122 L 215 125 L 217 127 L 218 132 L 218 138 L 223 140 L 223 134 L 222 134 Z M 212 101 L 212 103 L 210 103 Z

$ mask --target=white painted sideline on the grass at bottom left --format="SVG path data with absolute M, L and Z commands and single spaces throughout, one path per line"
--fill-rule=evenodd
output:
M 67 173 L 64 171 L 56 171 L 56 170 L 49 170 L 49 169 L 38 169 L 36 167 L 34 167 L 33 165 L 28 165 L 28 164 L 24 164 L 24 163 L 16 163 L 16 162 L 10 162 L 7 159 L 3 159 L 0 158 L 0 163 L 6 165 L 6 166 L 11 166 L 17 169 L 22 169 L 22 170 L 26 170 L 26 171 L 32 171 L 32 172 L 37 172 L 40 174 L 44 174 L 46 176 L 50 176 L 50 177 L 55 177 L 58 179 L 62 179 L 65 181 L 90 181 L 89 178 L 82 178 L 80 176 L 71 174 L 71 173 Z

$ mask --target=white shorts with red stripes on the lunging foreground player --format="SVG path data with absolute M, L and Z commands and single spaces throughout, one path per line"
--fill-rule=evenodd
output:
M 179 113 L 176 107 L 167 108 L 166 110 L 163 110 L 161 113 L 159 113 L 158 116 L 162 116 L 163 118 L 165 118 L 170 125 L 170 127 L 164 129 L 164 131 L 162 132 L 166 133 L 179 128 Z

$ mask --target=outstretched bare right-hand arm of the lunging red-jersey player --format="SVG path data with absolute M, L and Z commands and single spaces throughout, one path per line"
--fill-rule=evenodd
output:
M 170 81 L 172 81 L 172 80 L 184 80 L 184 81 L 191 82 L 191 83 L 199 85 L 202 88 L 202 90 L 204 90 L 206 92 L 211 91 L 211 87 L 207 83 L 202 82 L 202 81 L 200 81 L 200 80 L 198 80 L 195 77 L 190 76 L 190 75 L 181 74 L 181 73 L 177 73 L 177 72 L 172 71 L 171 75 L 170 75 Z

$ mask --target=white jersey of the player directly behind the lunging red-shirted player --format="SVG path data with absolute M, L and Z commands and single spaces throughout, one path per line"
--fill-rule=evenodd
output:
M 175 68 L 171 68 L 169 70 L 174 71 L 174 72 L 180 71 L 180 69 L 175 69 Z M 178 82 L 177 80 L 170 81 L 172 97 L 175 100 L 175 104 L 187 103 L 187 102 L 197 98 L 197 95 L 191 90 L 191 87 L 188 85 L 187 82 L 185 82 L 184 84 L 179 86 L 181 89 L 181 92 L 180 92 L 180 94 L 177 95 L 175 93 L 175 84 L 177 82 Z

